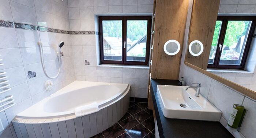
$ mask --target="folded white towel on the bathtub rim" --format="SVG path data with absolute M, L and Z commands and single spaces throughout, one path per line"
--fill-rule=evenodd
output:
M 89 105 L 79 106 L 75 109 L 76 117 L 82 117 L 87 114 L 92 114 L 99 111 L 99 106 L 97 102 L 93 102 Z

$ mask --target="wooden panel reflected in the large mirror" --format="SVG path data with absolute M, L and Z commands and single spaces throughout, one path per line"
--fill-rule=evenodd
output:
M 219 3 L 220 0 L 193 1 L 188 45 L 194 40 L 199 40 L 204 45 L 204 51 L 200 56 L 194 57 L 187 50 L 186 62 L 204 70 L 207 69 L 208 65 Z

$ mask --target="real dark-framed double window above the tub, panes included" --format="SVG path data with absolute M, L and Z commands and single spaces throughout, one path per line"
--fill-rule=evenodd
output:
M 151 16 L 99 17 L 101 63 L 148 65 Z

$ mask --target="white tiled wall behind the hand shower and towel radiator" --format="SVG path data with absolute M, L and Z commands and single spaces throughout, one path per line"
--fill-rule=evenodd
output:
M 68 3 L 61 0 L 0 0 L 0 20 L 69 31 Z M 65 42 L 61 73 L 56 79 L 49 79 L 44 74 L 38 41 L 44 44 L 46 68 L 51 76 L 58 70 L 57 45 L 60 41 Z M 16 137 L 11 120 L 17 113 L 75 80 L 71 48 L 71 37 L 67 34 L 0 27 L 0 54 L 5 64 L 0 70 L 7 72 L 11 85 L 11 91 L 5 95 L 13 95 L 16 103 L 0 113 L 5 128 L 0 132 L 1 138 Z M 37 76 L 28 78 L 30 70 Z M 53 90 L 45 90 L 46 80 L 53 81 Z

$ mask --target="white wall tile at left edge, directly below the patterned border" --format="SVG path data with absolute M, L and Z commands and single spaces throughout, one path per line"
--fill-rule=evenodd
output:
M 0 28 L 0 48 L 18 48 L 18 41 L 15 29 Z

